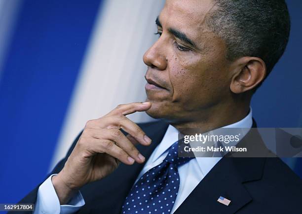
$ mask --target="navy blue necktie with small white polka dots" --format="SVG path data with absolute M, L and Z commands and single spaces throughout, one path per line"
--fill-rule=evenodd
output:
M 178 167 L 191 159 L 178 157 L 178 142 L 174 143 L 163 162 L 134 184 L 121 214 L 170 214 L 179 189 Z

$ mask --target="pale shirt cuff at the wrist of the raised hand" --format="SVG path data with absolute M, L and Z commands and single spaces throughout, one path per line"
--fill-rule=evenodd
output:
M 82 194 L 78 191 L 67 205 L 60 205 L 59 198 L 49 176 L 38 188 L 34 214 L 73 214 L 85 205 Z

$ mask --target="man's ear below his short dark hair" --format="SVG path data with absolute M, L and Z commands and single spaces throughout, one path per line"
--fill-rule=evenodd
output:
M 266 66 L 258 57 L 242 57 L 234 62 L 230 90 L 240 94 L 255 88 L 266 76 Z

